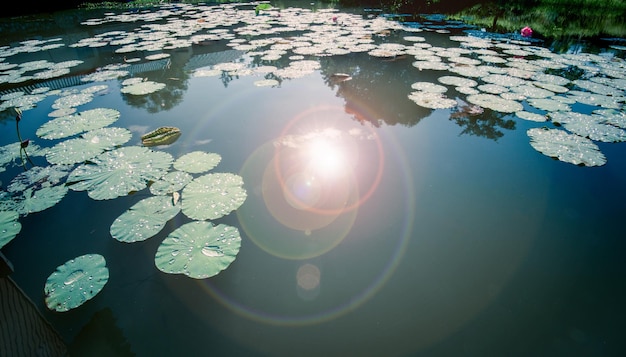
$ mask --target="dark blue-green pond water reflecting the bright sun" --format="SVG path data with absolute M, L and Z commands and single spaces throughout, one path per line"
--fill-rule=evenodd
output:
M 107 26 L 74 24 L 67 36 L 52 26 L 25 39 L 63 35 L 71 44 L 135 25 Z M 433 46 L 458 45 L 447 33 L 417 35 Z M 181 215 L 143 242 L 111 238 L 113 220 L 147 190 L 106 201 L 70 190 L 54 207 L 20 218 L 21 232 L 2 248 L 11 277 L 70 350 L 85 348 L 76 355 L 623 355 L 625 144 L 599 143 L 607 164 L 578 167 L 529 145 L 526 130 L 543 123 L 488 109 L 482 119 L 454 120 L 448 109 L 421 108 L 407 98 L 411 84 L 435 83 L 445 72 L 419 71 L 410 56 L 320 57 L 321 69 L 278 87 L 256 87 L 258 76 L 190 75 L 203 55 L 230 56 L 225 43 L 172 50 L 167 66 L 138 67 L 136 76 L 167 84 L 161 92 L 122 95 L 121 79 L 111 80 L 108 93 L 79 108 L 119 110 L 115 126 L 133 131 L 127 145 L 140 145 L 146 128 L 176 126 L 181 138 L 159 150 L 219 153 L 215 171 L 243 177 L 246 202 L 218 220 L 242 235 L 226 270 L 195 280 L 155 267 L 156 249 L 185 222 Z M 20 56 L 11 62 L 80 58 L 75 76 L 122 61 L 112 46 Z M 243 54 L 234 59 L 251 63 Z M 337 72 L 353 79 L 333 84 Z M 72 88 L 92 85 L 70 78 Z M 36 138 L 53 101 L 24 112 L 22 137 Z M 3 114 L 6 145 L 16 140 L 15 122 Z M 300 203 L 313 204 L 317 192 L 331 206 L 294 210 L 272 171 L 276 140 L 325 130 L 343 139 L 324 158 L 343 161 L 322 160 L 330 177 Z M 304 187 L 299 161 L 291 164 L 288 179 Z M 19 172 L 0 173 L 3 187 Z M 79 308 L 49 311 L 47 277 L 86 253 L 106 257 L 107 285 Z

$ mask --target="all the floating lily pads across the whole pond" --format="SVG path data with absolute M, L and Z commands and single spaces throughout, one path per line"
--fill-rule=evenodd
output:
M 79 111 L 94 96 L 109 92 L 106 83 L 121 80 L 120 91 L 146 95 L 165 84 L 132 77 L 131 63 L 169 57 L 167 51 L 195 45 L 226 42 L 245 53 L 237 61 L 218 63 L 193 71 L 195 77 L 261 76 L 256 86 L 278 86 L 319 70 L 320 57 L 367 53 L 381 59 L 412 56 L 416 71 L 445 71 L 438 83 L 416 82 L 407 96 L 430 109 L 467 109 L 468 115 L 484 110 L 515 115 L 535 122 L 551 121 L 552 128 L 528 130 L 539 152 L 576 165 L 598 166 L 606 158 L 593 141 L 626 140 L 624 102 L 626 64 L 609 56 L 586 53 L 555 54 L 531 42 L 489 39 L 472 35 L 449 36 L 457 47 L 436 47 L 417 34 L 446 32 L 426 26 L 392 21 L 385 16 L 361 16 L 335 9 L 277 9 L 248 4 L 163 5 L 153 11 L 108 13 L 83 22 L 85 26 L 137 24 L 130 31 L 109 31 L 84 38 L 70 47 L 109 46 L 123 56 L 98 71 L 82 75 L 82 90 L 31 86 L 0 96 L 0 111 L 34 108 L 50 96 L 57 99 L 51 119 L 36 132 L 51 147 L 39 142 L 16 142 L 0 147 L 0 172 L 10 165 L 25 166 L 21 154 L 45 158 L 43 166 L 30 167 L 0 192 L 0 248 L 21 230 L 19 217 L 54 206 L 68 190 L 86 191 L 95 200 L 109 200 L 148 189 L 152 196 L 130 207 L 111 225 L 110 234 L 121 242 L 137 242 L 159 233 L 165 223 L 182 212 L 193 220 L 161 243 L 155 263 L 166 273 L 207 278 L 225 269 L 237 255 L 240 235 L 235 227 L 211 220 L 236 210 L 246 192 L 240 176 L 207 173 L 220 161 L 214 153 L 191 152 L 177 159 L 152 149 L 176 140 L 180 132 L 165 127 L 142 137 L 142 146 L 124 146 L 132 134 L 110 126 L 120 116 L 111 108 Z M 389 35 L 404 34 L 398 41 Z M 26 40 L 0 47 L 0 85 L 40 83 L 71 73 L 83 61 L 53 63 L 47 60 L 11 63 L 20 53 L 63 47 L 60 39 Z M 147 55 L 141 55 L 149 53 Z M 272 65 L 288 58 L 287 66 Z M 251 67 L 255 59 L 265 65 Z M 567 78 L 561 71 L 575 68 Z M 351 73 L 342 74 L 346 80 Z M 455 96 L 447 93 L 456 92 Z M 458 97 L 464 96 L 464 100 Z M 471 106 L 465 106 L 465 101 Z M 574 111 L 575 105 L 587 112 Z M 465 110 L 465 109 L 464 109 Z M 160 131 L 159 131 L 160 130 Z M 97 294 L 108 280 L 106 261 L 97 254 L 77 257 L 59 266 L 46 283 L 46 302 L 67 311 Z M 86 285 L 84 285 L 86 284 Z

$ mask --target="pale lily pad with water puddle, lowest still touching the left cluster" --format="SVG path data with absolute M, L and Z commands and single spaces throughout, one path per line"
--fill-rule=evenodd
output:
M 196 221 L 170 233 L 157 249 L 154 261 L 164 273 L 205 279 L 226 269 L 235 260 L 240 247 L 237 228 Z

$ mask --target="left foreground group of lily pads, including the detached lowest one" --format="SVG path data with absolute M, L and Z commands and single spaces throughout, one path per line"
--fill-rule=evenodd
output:
M 158 128 L 143 135 L 144 146 L 122 146 L 132 135 L 127 129 L 109 126 L 119 117 L 117 110 L 95 108 L 39 127 L 36 133 L 44 140 L 66 140 L 49 148 L 33 145 L 31 155 L 44 156 L 49 165 L 22 172 L 0 193 L 0 247 L 20 232 L 20 216 L 54 206 L 69 189 L 86 191 L 94 200 L 148 189 L 152 196 L 115 219 L 111 236 L 127 243 L 146 240 L 182 212 L 193 221 L 163 240 L 155 256 L 157 268 L 195 279 L 226 269 L 239 252 L 239 231 L 209 220 L 243 204 L 242 178 L 232 173 L 207 173 L 221 161 L 215 153 L 193 151 L 174 160 L 167 152 L 147 147 L 171 143 L 171 135 L 180 133 L 177 128 Z M 15 145 L 0 148 L 3 163 L 17 160 L 15 155 L 11 157 L 14 149 Z M 104 257 L 87 254 L 59 266 L 45 285 L 47 306 L 67 311 L 92 298 L 108 280 L 105 264 Z

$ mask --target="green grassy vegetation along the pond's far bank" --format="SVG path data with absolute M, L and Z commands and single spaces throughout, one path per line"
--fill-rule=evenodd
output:
M 141 8 L 167 0 L 83 3 L 82 8 Z M 185 0 L 182 3 L 201 3 Z M 231 0 L 214 0 L 228 3 Z M 375 7 L 384 11 L 421 14 L 441 13 L 452 19 L 481 26 L 493 32 L 512 32 L 524 26 L 538 36 L 548 38 L 626 36 L 626 2 L 622 0 L 323 0 L 342 6 Z M 269 2 L 281 7 L 281 1 Z M 263 4 L 262 6 L 270 6 Z M 259 8 L 259 10 L 263 10 Z

